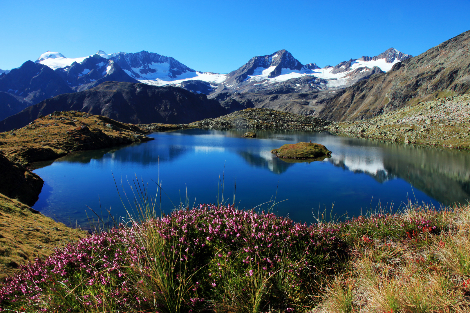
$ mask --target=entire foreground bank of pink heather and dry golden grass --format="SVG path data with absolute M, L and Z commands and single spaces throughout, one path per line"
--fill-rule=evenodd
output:
M 293 223 L 201 205 L 68 244 L 0 284 L 22 312 L 468 312 L 470 206 Z

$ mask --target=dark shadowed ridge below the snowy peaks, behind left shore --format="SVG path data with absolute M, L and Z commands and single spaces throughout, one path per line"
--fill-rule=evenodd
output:
M 66 93 L 27 107 L 0 122 L 0 131 L 21 128 L 40 115 L 77 110 L 125 123 L 190 123 L 230 113 L 217 100 L 179 87 L 105 82 L 95 88 Z

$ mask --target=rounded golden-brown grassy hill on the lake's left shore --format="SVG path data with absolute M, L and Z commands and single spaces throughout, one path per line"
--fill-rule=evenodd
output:
M 67 153 L 152 140 L 132 124 L 78 111 L 54 112 L 25 127 L 0 133 L 0 151 L 20 165 Z

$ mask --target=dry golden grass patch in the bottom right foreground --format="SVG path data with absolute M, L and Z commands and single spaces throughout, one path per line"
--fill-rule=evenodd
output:
M 446 225 L 440 233 L 367 244 L 356 238 L 351 269 L 329 284 L 315 312 L 470 312 L 470 206 L 440 212 L 409 207 L 396 218 L 430 213 Z

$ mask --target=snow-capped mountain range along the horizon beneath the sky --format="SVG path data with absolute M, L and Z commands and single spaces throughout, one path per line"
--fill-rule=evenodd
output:
M 107 81 L 117 81 L 172 85 L 210 98 L 219 94 L 225 94 L 226 98 L 234 93 L 258 94 L 264 96 L 256 101 L 265 103 L 268 101 L 265 96 L 272 94 L 324 91 L 331 96 L 334 93 L 329 94 L 329 89 L 348 87 L 373 74 L 388 71 L 398 61 L 410 57 L 390 48 L 374 57 L 363 56 L 320 69 L 315 63 L 304 65 L 288 51 L 279 50 L 253 57 L 228 74 L 219 74 L 196 71 L 172 57 L 146 51 L 107 54 L 99 50 L 79 58 L 67 58 L 62 53 L 47 51 L 35 62 L 27 61 L 17 69 L 3 71 L 0 74 L 0 92 L 13 97 L 9 96 L 8 101 L 15 104 L 9 107 L 15 108 L 36 104 L 61 93 L 79 92 Z M 309 97 L 320 99 L 317 96 Z M 289 102 L 288 99 L 286 101 Z M 312 104 L 311 101 L 302 101 L 305 105 Z M 301 111 L 311 114 L 308 110 Z

